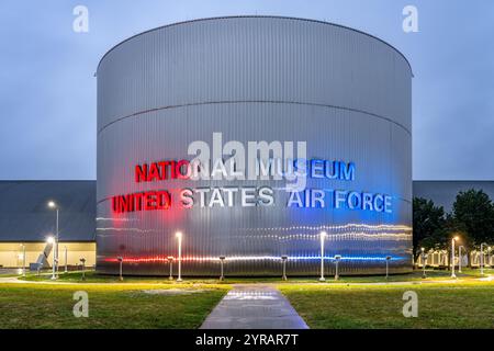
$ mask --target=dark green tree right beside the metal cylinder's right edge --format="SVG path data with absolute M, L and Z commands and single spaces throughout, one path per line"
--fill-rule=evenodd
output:
M 429 249 L 444 248 L 445 241 L 445 210 L 436 206 L 431 200 L 414 197 L 413 201 L 413 245 L 414 258 L 417 259 L 420 247 Z

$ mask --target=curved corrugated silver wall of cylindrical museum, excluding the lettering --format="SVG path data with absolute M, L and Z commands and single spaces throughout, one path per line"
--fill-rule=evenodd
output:
M 134 36 L 98 68 L 97 270 L 168 274 L 183 233 L 184 275 L 318 274 L 343 254 L 343 274 L 412 269 L 411 81 L 406 59 L 347 27 L 288 18 L 220 18 Z M 282 186 L 280 181 L 136 183 L 134 166 L 190 159 L 194 140 L 306 141 L 307 158 L 352 161 L 351 182 L 308 179 L 319 189 L 392 196 L 393 213 L 270 207 L 192 207 L 114 214 L 111 196 L 151 189 Z

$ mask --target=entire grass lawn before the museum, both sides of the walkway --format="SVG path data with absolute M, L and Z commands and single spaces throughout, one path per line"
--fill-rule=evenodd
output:
M 493 274 L 493 270 L 486 270 Z M 428 271 L 427 281 L 449 280 L 448 271 Z M 457 283 L 424 283 L 422 271 L 380 276 L 317 278 L 167 278 L 116 276 L 86 272 L 27 274 L 30 283 L 0 282 L 0 329 L 3 328 L 197 328 L 234 283 L 277 284 L 311 328 L 494 328 L 494 281 L 480 282 L 479 270 L 465 269 Z M 5 275 L 1 275 L 5 276 Z M 347 285 L 348 283 L 348 285 Z M 366 283 L 382 283 L 364 285 Z M 161 290 L 160 294 L 145 290 Z M 72 294 L 89 294 L 89 318 L 76 318 Z M 171 294 L 162 293 L 171 291 Z M 405 291 L 418 295 L 418 317 L 402 314 Z M 186 294 L 183 294 L 186 292 Z

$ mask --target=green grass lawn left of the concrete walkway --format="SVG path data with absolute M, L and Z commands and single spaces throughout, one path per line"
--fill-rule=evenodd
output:
M 187 294 L 147 294 L 172 288 L 138 284 L 0 284 L 0 329 L 198 328 L 226 294 L 227 285 L 181 284 Z M 89 317 L 72 314 L 74 292 L 89 295 Z

